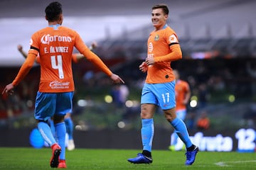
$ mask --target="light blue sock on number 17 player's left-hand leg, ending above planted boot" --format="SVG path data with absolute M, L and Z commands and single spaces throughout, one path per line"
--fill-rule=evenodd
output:
M 142 119 L 142 145 L 143 150 L 151 152 L 154 137 L 154 121 L 153 119 Z

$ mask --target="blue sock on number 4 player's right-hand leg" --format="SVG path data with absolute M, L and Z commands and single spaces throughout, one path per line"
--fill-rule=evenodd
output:
M 58 145 L 61 147 L 60 159 L 65 160 L 65 123 L 57 123 L 55 125 L 56 135 L 58 137 Z

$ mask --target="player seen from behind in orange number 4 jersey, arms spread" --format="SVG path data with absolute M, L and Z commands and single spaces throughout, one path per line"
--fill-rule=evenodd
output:
M 124 83 L 85 45 L 80 35 L 63 23 L 62 5 L 58 1 L 50 3 L 46 9 L 48 27 L 38 30 L 31 37 L 31 49 L 18 74 L 11 84 L 7 84 L 2 94 L 12 94 L 14 87 L 26 77 L 33 67 L 36 56 L 40 56 L 41 78 L 35 102 L 35 118 L 43 139 L 52 148 L 50 166 L 66 168 L 65 164 L 65 114 L 73 107 L 72 98 L 75 91 L 73 81 L 72 52 L 75 47 L 87 60 L 99 67 L 114 81 Z M 47 123 L 53 117 L 58 142 Z

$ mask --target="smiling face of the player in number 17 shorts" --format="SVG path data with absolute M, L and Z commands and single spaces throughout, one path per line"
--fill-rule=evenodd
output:
M 164 27 L 166 24 L 166 20 L 168 18 L 168 15 L 164 14 L 164 11 L 162 8 L 156 8 L 151 13 L 151 21 L 153 23 L 153 26 L 156 28 L 156 30 L 159 30 Z

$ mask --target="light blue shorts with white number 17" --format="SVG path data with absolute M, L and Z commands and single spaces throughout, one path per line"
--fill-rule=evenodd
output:
M 144 84 L 141 103 L 160 106 L 162 110 L 176 107 L 175 81 L 164 84 Z

